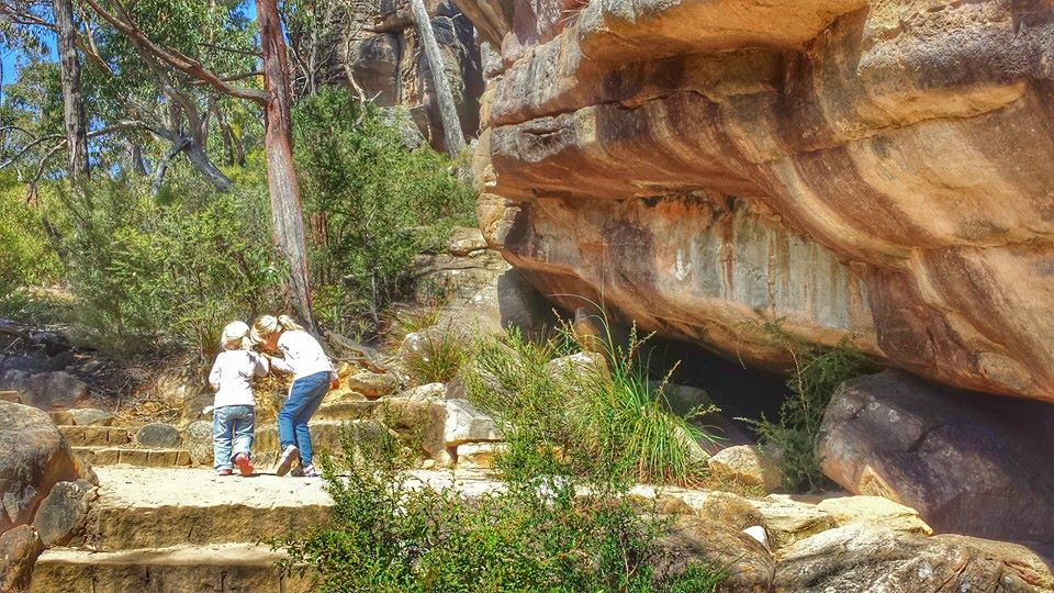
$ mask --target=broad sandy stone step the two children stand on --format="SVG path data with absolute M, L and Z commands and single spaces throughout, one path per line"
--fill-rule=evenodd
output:
M 96 471 L 103 485 L 87 544 L 99 550 L 257 542 L 323 525 L 333 505 L 318 479 L 197 468 Z

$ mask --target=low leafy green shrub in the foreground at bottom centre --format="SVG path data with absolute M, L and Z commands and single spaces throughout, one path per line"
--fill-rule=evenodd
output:
M 541 474 L 466 500 L 414 483 L 395 461 L 395 439 L 377 438 L 346 441 L 340 475 L 323 462 L 334 522 L 274 542 L 290 564 L 316 571 L 318 591 L 705 593 L 722 578 L 694 563 L 684 577 L 657 579 L 666 524 L 608 489 L 581 493 L 572 480 Z

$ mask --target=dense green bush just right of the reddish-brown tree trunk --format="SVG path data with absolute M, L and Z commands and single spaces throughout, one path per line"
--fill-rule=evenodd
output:
M 346 90 L 305 99 L 294 123 L 313 281 L 327 287 L 316 314 L 337 331 L 375 329 L 412 259 L 471 224 L 472 192 L 446 157 L 407 150 L 395 125 Z

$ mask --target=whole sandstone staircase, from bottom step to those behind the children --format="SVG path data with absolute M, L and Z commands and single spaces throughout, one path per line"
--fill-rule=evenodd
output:
M 339 454 L 349 427 L 360 435 L 389 425 L 400 434 L 424 433 L 430 435 L 431 449 L 447 456 L 444 465 L 451 465 L 462 441 L 497 438 L 489 418 L 483 422 L 467 405 L 413 398 L 327 401 L 312 418 L 311 432 L 316 451 L 330 454 Z M 281 568 L 284 556 L 268 541 L 324 524 L 333 503 L 321 480 L 271 473 L 280 448 L 273 421 L 257 424 L 254 462 L 259 473 L 218 477 L 209 430 L 195 441 L 188 429 L 173 436 L 175 427 L 167 425 L 109 426 L 112 418 L 87 424 L 65 413 L 53 419 L 72 450 L 93 466 L 99 496 L 83 536 L 40 557 L 31 591 L 312 590 L 310 573 Z M 145 435 L 148 427 L 152 435 Z M 467 469 L 470 456 L 463 457 L 456 474 L 417 470 L 414 479 L 467 495 L 494 488 L 481 470 Z M 426 461 L 425 467 L 437 466 L 435 459 Z

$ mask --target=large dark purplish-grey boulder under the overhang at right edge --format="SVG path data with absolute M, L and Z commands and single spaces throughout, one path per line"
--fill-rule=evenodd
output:
M 1051 540 L 1054 405 L 993 399 L 899 371 L 843 383 L 823 417 L 823 473 L 917 508 L 938 532 Z

